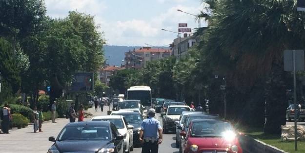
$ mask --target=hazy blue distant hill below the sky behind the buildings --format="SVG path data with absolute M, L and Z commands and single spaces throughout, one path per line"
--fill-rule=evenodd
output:
M 125 52 L 133 50 L 133 48 L 137 49 L 140 48 L 140 46 L 104 45 L 103 49 L 107 64 L 110 56 L 110 65 L 121 66 L 121 64 L 123 64 L 122 60 L 125 58 Z

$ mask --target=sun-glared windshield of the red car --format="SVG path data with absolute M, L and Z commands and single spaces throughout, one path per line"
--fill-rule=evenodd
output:
M 191 129 L 191 137 L 224 137 L 234 130 L 231 124 L 221 121 L 195 122 Z

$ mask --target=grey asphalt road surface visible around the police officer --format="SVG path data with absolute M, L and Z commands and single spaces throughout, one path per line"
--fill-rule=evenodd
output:
M 160 113 L 157 113 L 156 118 L 161 123 L 162 126 L 162 118 L 160 117 Z M 179 148 L 176 148 L 175 138 L 176 134 L 174 131 L 171 132 L 172 134 L 163 134 L 163 141 L 159 145 L 159 153 L 179 153 Z M 142 148 L 135 148 L 131 153 L 141 153 Z

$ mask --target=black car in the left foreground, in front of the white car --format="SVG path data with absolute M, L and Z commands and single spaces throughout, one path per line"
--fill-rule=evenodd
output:
M 108 121 L 87 121 L 67 124 L 55 139 L 48 153 L 123 153 L 124 140 Z

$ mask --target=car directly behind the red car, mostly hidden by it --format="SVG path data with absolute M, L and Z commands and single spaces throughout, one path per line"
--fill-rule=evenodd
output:
M 219 119 L 219 115 L 207 114 L 207 113 L 188 114 L 183 120 L 183 126 L 182 127 L 178 126 L 177 129 L 179 129 L 181 131 L 187 131 L 191 121 L 194 119 Z M 182 153 L 182 151 L 183 151 L 184 143 L 185 143 L 185 139 L 183 136 L 180 135 L 180 144 L 179 144 L 180 153 Z

